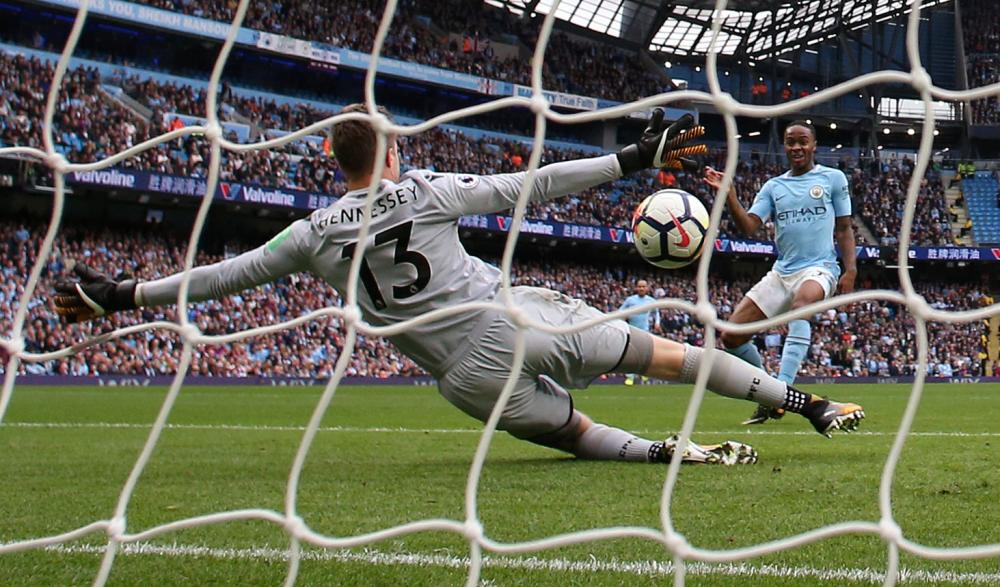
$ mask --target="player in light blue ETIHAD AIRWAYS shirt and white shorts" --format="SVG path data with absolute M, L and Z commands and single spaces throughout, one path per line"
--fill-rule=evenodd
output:
M 731 322 L 746 324 L 796 310 L 830 297 L 835 287 L 840 293 L 854 291 L 858 271 L 847 177 L 839 169 L 818 165 L 815 152 L 816 129 L 805 121 L 792 122 L 785 128 L 789 170 L 764 184 L 749 211 L 740 204 L 736 188 L 729 188 L 729 212 L 740 231 L 753 236 L 765 220 L 773 220 L 778 245 L 774 267 L 736 306 Z M 705 170 L 705 183 L 718 190 L 722 176 L 709 167 Z M 841 251 L 843 272 L 837 265 L 834 241 Z M 721 338 L 729 353 L 756 367 L 762 366 L 760 353 L 751 342 L 752 335 L 723 332 Z M 808 320 L 788 323 L 778 379 L 789 385 L 795 382 L 809 351 L 810 338 Z M 743 423 L 761 424 L 783 415 L 780 408 L 758 406 Z

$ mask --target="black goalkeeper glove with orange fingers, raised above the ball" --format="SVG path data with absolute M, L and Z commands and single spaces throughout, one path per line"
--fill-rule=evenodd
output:
M 705 127 L 694 126 L 694 117 L 690 114 L 685 114 L 664 128 L 663 109 L 656 108 L 639 140 L 618 152 L 622 175 L 650 167 L 696 171 L 698 163 L 688 157 L 704 155 L 708 153 L 708 147 L 700 144 L 683 145 L 704 134 Z

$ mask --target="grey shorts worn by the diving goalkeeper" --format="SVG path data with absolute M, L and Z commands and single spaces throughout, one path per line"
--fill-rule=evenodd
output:
M 604 314 L 584 302 L 537 287 L 512 289 L 514 303 L 532 320 L 553 326 L 579 324 Z M 629 344 L 624 320 L 607 320 L 572 334 L 528 330 L 524 366 L 498 428 L 520 438 L 552 433 L 567 425 L 573 400 L 566 387 L 586 387 L 614 370 Z M 496 404 L 514 360 L 517 327 L 497 316 L 469 352 L 438 383 L 441 395 L 466 414 L 485 422 Z

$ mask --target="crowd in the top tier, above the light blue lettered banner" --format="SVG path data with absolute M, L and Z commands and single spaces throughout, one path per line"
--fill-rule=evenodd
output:
M 231 21 L 232 0 L 140 0 L 157 8 Z M 243 26 L 338 47 L 372 50 L 385 2 L 305 0 L 251 2 Z M 541 18 L 522 20 L 488 4 L 462 0 L 403 0 L 396 7 L 382 54 L 521 85 L 531 84 L 530 56 Z M 444 33 L 444 34 L 442 34 Z M 499 45 L 507 45 L 506 57 Z M 556 32 L 545 52 L 546 89 L 630 101 L 671 89 L 634 52 L 575 40 Z

